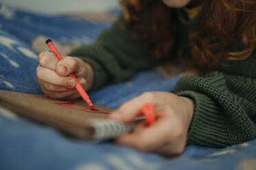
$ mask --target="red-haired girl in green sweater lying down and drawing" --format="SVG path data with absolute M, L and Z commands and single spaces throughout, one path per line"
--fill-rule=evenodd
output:
M 162 62 L 196 67 L 173 93 L 148 92 L 110 115 L 129 122 L 150 101 L 150 127 L 139 123 L 117 143 L 166 156 L 187 144 L 226 147 L 253 139 L 256 123 L 254 0 L 123 0 L 124 14 L 91 45 L 60 62 L 45 53 L 37 68 L 45 95 L 76 99 L 75 73 L 86 90 L 126 80 Z

